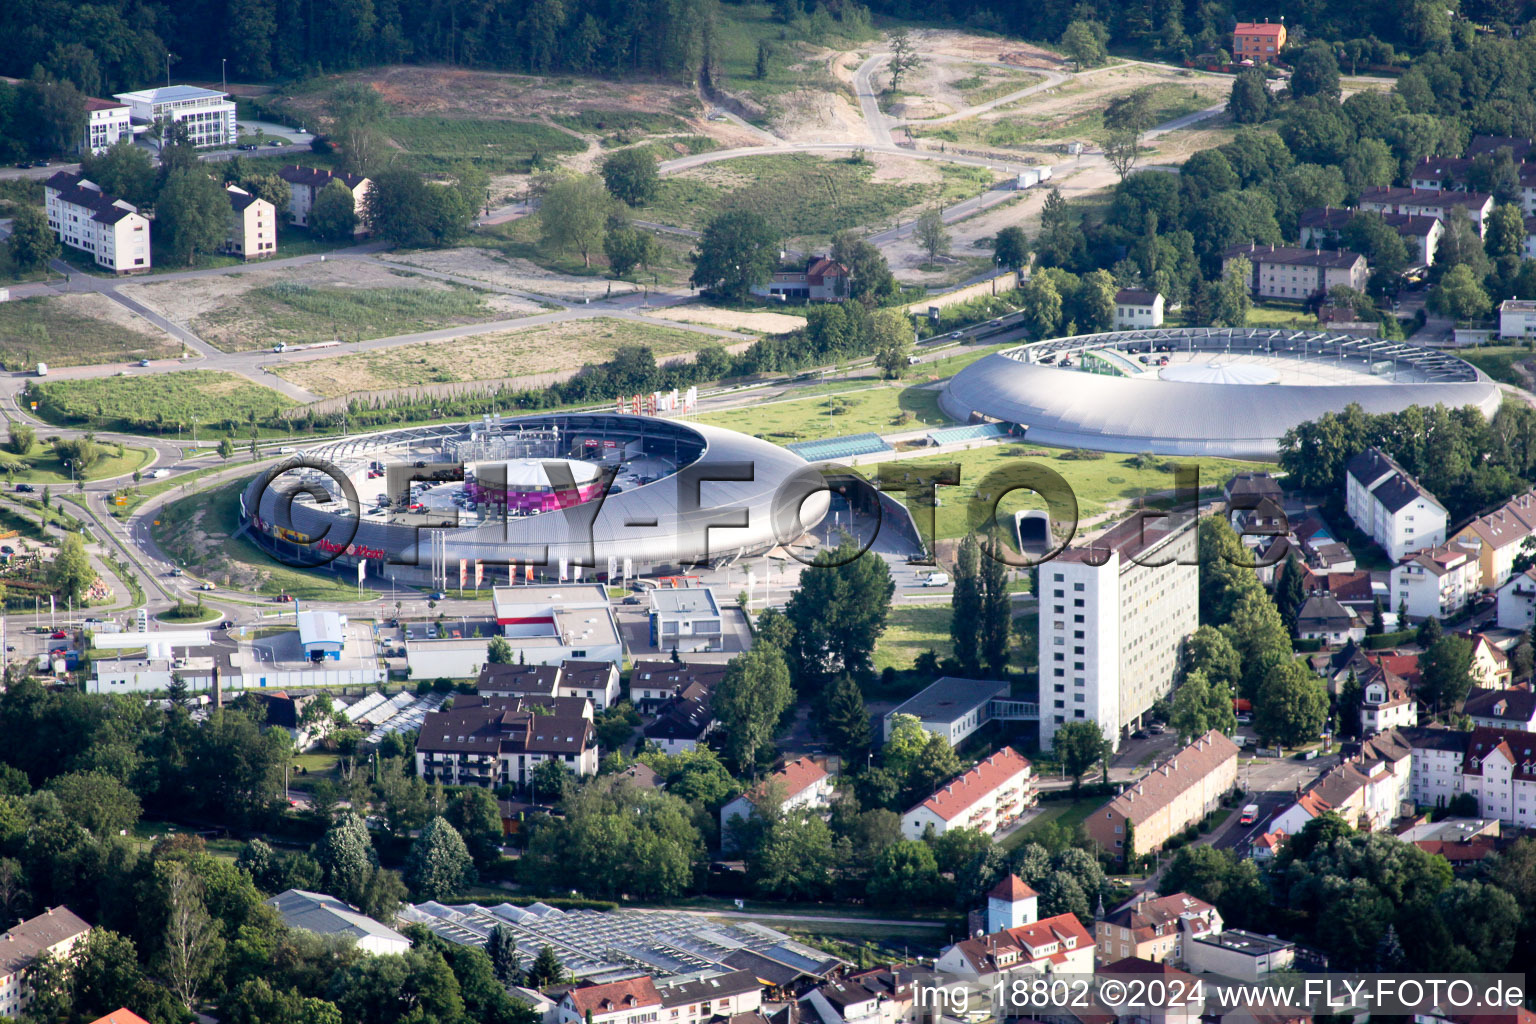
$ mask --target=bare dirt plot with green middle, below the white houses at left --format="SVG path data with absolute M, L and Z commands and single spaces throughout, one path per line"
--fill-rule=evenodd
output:
M 364 259 L 131 284 L 124 292 L 224 352 L 249 352 L 280 341 L 387 338 L 542 310 L 531 299 Z

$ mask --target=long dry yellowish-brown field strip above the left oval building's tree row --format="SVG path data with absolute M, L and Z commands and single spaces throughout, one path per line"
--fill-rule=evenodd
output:
M 670 315 L 664 313 L 664 315 Z M 422 341 L 330 359 L 286 362 L 278 375 L 326 398 L 418 384 L 516 379 L 528 387 L 601 362 L 621 345 L 648 345 L 662 359 L 714 338 L 617 318 L 568 319 L 470 338 Z

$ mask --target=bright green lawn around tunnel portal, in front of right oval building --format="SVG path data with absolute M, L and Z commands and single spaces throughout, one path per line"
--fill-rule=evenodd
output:
M 1029 451 L 1046 451 L 1048 454 L 1046 457 L 1028 456 Z M 1068 451 L 1066 448 L 1044 448 L 1031 444 L 1005 444 L 925 456 L 905 461 L 903 465 L 957 464 L 960 467 L 960 485 L 948 493 L 940 491 L 938 496 L 943 504 L 937 508 L 935 530 L 942 540 L 962 537 L 982 525 L 972 522 L 972 514 L 980 516 L 989 511 L 991 505 L 977 502 L 977 510 L 972 513 L 971 504 L 983 481 L 989 473 L 1025 459 L 1038 461 L 1061 474 L 1077 496 L 1080 519 L 1106 511 L 1111 502 L 1135 500 L 1172 490 L 1174 474 L 1161 467 L 1172 467 L 1174 462 L 1195 462 L 1200 467 L 1203 491 L 1220 488 L 1233 473 L 1273 468 L 1269 464 L 1232 459 L 1169 459 L 1138 468 L 1135 465 L 1138 456 L 1104 454 L 1101 459 L 1063 459 L 1061 456 Z M 997 517 L 1006 524 L 1012 513 L 1021 508 L 1044 508 L 1044 502 L 1032 491 L 1014 491 L 998 504 Z

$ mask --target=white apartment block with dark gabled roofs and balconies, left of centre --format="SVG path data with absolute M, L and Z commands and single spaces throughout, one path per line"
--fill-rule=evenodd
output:
M 416 774 L 445 786 L 524 786 L 535 768 L 561 761 L 576 775 L 594 775 L 598 740 L 582 714 L 588 708 L 564 697 L 459 697 L 452 711 L 429 712 L 421 723 Z

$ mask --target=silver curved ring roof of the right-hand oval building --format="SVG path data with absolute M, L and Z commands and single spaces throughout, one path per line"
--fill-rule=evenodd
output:
M 1189 384 L 1118 378 L 1060 368 L 1043 356 L 1094 348 L 1252 353 L 1332 364 L 1362 372 L 1410 368 L 1415 382 L 1384 384 Z M 1134 330 L 1057 338 L 989 355 L 962 370 L 940 396 L 960 422 L 972 416 L 1026 427 L 1049 445 L 1103 451 L 1209 454 L 1275 459 L 1292 427 L 1356 402 L 1367 413 L 1409 405 L 1476 405 L 1491 416 L 1499 387 L 1471 364 L 1444 352 L 1402 342 L 1319 332 L 1267 329 Z

